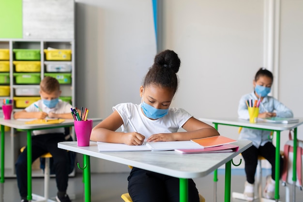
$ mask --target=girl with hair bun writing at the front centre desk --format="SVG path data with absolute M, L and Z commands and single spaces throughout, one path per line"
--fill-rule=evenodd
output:
M 172 50 L 157 54 L 139 93 L 141 103 L 121 103 L 96 125 L 91 140 L 141 145 L 146 141 L 178 141 L 217 136 L 219 133 L 181 108 L 170 108 L 178 88 L 180 59 Z M 116 132 L 121 126 L 122 132 Z M 178 132 L 180 128 L 185 132 Z M 179 202 L 179 179 L 133 168 L 128 191 L 134 202 Z M 196 184 L 188 180 L 189 202 L 199 202 Z

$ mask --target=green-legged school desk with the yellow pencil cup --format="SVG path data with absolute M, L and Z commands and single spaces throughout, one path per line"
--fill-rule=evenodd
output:
M 246 127 L 251 129 L 259 129 L 259 130 L 268 130 L 273 131 L 276 134 L 276 151 L 275 151 L 275 164 L 280 164 L 280 134 L 281 131 L 284 130 L 294 130 L 294 151 L 293 151 L 293 159 L 296 159 L 297 156 L 297 127 L 301 124 L 303 124 L 303 118 L 298 118 L 298 123 L 293 124 L 277 124 L 277 123 L 268 123 L 268 122 L 258 122 L 256 124 L 249 123 L 249 120 L 243 120 L 238 118 L 218 118 L 218 119 L 210 119 L 210 118 L 200 118 L 199 120 L 202 122 L 212 122 L 214 124 L 215 129 L 218 129 L 218 125 L 229 125 L 229 126 L 236 126 L 236 127 Z M 275 181 L 279 182 L 279 173 L 280 173 L 280 167 L 275 167 Z M 292 199 L 293 202 L 295 202 L 296 198 L 296 189 L 295 189 L 295 182 L 296 182 L 296 161 L 293 161 L 293 176 L 292 180 L 293 188 L 292 188 Z M 215 172 L 216 175 L 216 172 Z M 214 181 L 216 181 L 216 176 L 214 176 Z M 274 191 L 274 199 L 276 201 L 279 200 L 279 183 L 275 183 L 275 191 Z

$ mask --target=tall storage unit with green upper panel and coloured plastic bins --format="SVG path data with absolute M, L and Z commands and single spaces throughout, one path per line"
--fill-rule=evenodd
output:
M 3 99 L 14 100 L 13 111 L 40 99 L 39 84 L 45 76 L 57 78 L 62 91 L 60 98 L 76 106 L 75 1 L 10 0 L 1 1 L 0 8 L 5 8 L 1 10 L 0 20 L 0 108 Z M 47 48 L 67 50 L 70 59 L 58 59 L 57 52 L 50 55 L 52 60 L 49 60 Z M 8 51 L 9 58 L 1 59 L 1 49 L 6 49 L 6 54 Z M 19 60 L 18 49 L 36 49 L 40 57 Z M 3 117 L 1 109 L 0 117 Z M 26 145 L 26 135 L 10 128 L 5 131 L 5 177 L 15 177 L 15 161 L 20 148 Z M 71 134 L 75 140 L 74 130 Z M 33 176 L 43 176 L 39 163 L 34 162 L 32 168 Z M 74 174 L 75 171 L 71 173 Z

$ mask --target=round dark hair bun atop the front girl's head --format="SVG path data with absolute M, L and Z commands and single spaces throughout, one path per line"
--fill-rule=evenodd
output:
M 179 71 L 181 61 L 177 53 L 174 51 L 164 50 L 155 56 L 154 64 L 163 66 L 164 68 L 170 68 L 177 73 Z

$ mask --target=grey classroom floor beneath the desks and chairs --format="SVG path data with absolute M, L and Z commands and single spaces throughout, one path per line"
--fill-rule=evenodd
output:
M 263 184 L 268 170 L 263 171 Z M 123 202 L 120 198 L 122 193 L 127 192 L 128 173 L 92 173 L 91 174 L 91 202 Z M 196 182 L 199 193 L 204 196 L 206 202 L 213 202 L 213 175 L 197 178 Z M 242 192 L 245 176 L 243 169 L 232 170 L 231 192 Z M 35 194 L 43 195 L 43 178 L 33 178 L 32 191 Z M 68 194 L 74 198 L 73 202 L 84 202 L 84 186 L 82 173 L 69 179 Z M 224 202 L 224 170 L 218 170 L 217 202 Z M 290 187 L 290 191 L 291 191 Z M 256 188 L 257 191 L 257 188 Z M 57 192 L 54 178 L 50 179 L 50 197 Z M 291 193 L 290 193 L 291 196 Z M 280 200 L 285 202 L 285 187 L 280 186 Z M 20 202 L 18 188 L 15 178 L 6 178 L 4 183 L 4 202 Z M 243 202 L 242 200 L 231 199 L 231 202 Z M 296 189 L 296 202 L 303 202 L 303 193 Z

